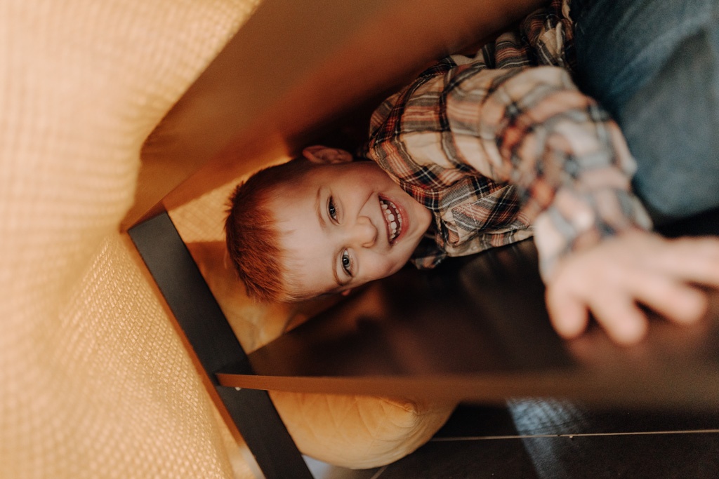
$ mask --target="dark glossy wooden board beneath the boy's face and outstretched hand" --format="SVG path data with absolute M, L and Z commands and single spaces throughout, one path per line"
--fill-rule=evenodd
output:
M 669 236 L 716 233 L 719 215 Z M 243 371 L 253 371 L 243 373 Z M 551 328 L 531 241 L 404 269 L 222 368 L 224 386 L 493 402 L 550 396 L 620 406 L 719 405 L 719 294 L 679 327 L 653 317 L 630 348 L 598 327 L 564 341 Z

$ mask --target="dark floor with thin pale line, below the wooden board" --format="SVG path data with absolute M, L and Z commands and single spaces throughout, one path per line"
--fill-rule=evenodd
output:
M 308 463 L 316 479 L 718 478 L 719 411 L 460 406 L 430 442 L 383 468 Z

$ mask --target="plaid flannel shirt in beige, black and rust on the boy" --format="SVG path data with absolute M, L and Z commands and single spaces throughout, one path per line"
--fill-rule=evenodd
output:
M 373 113 L 363 153 L 434 215 L 416 266 L 534 233 L 546 278 L 569 251 L 650 227 L 618 126 L 572 82 L 568 4 L 441 60 Z

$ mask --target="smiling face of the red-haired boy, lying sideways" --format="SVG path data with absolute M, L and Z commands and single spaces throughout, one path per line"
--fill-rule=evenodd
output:
M 316 165 L 269 207 L 285 269 L 312 295 L 395 273 L 431 222 L 429 210 L 372 162 Z

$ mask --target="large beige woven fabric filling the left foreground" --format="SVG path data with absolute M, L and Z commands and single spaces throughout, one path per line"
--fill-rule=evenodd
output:
M 254 4 L 0 2 L 3 477 L 252 477 L 118 226 L 145 137 Z

